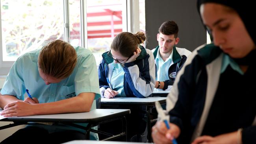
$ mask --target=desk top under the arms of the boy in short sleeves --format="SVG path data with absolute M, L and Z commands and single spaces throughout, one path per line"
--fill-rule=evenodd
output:
M 2 109 L 0 110 L 0 112 Z M 99 123 L 110 118 L 130 114 L 130 109 L 94 109 L 87 113 L 47 114 L 3 118 L 0 121 L 11 122 L 74 122 Z

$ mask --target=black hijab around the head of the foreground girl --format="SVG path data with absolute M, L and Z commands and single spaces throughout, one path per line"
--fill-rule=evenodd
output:
M 243 23 L 245 24 L 245 28 L 248 31 L 254 45 L 256 44 L 256 20 L 255 18 L 255 10 L 256 6 L 253 4 L 253 0 L 197 0 L 197 10 L 200 14 L 200 6 L 201 4 L 213 2 L 217 4 L 222 4 L 224 6 L 231 7 L 234 9 L 238 15 L 241 17 Z M 201 15 L 200 15 L 201 17 Z M 202 18 L 201 18 L 202 20 Z M 249 65 L 252 61 L 255 60 L 256 50 L 252 50 L 247 56 L 241 59 L 234 59 L 239 65 Z

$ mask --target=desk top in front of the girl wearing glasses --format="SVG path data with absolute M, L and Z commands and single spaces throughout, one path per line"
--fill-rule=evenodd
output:
M 101 104 L 133 104 L 133 105 L 155 105 L 155 102 L 165 103 L 165 97 L 147 97 L 147 98 L 101 98 Z

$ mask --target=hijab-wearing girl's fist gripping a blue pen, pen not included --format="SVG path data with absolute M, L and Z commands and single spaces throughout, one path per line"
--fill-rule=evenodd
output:
M 172 144 L 173 138 L 180 135 L 180 128 L 169 123 L 170 129 L 167 129 L 164 122 L 157 122 L 152 127 L 152 138 L 155 144 Z

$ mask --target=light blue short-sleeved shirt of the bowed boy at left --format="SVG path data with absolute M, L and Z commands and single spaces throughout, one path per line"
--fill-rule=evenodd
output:
M 39 103 L 72 98 L 82 92 L 96 93 L 95 99 L 99 98 L 99 82 L 95 80 L 98 79 L 95 57 L 89 50 L 80 46 L 76 47 L 75 50 L 77 64 L 72 74 L 61 82 L 50 85 L 46 85 L 39 76 L 37 58 L 41 49 L 20 56 L 11 67 L 1 94 L 16 96 L 18 99 L 24 100 L 25 89 L 28 89 L 32 97 L 39 100 Z M 67 107 L 67 109 L 71 109 L 71 107 Z M 96 109 L 95 104 L 91 109 Z M 86 124 L 83 124 L 83 126 L 86 126 Z M 65 129 L 85 132 L 82 129 L 62 124 L 39 125 L 39 127 L 47 129 L 50 133 Z

